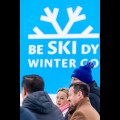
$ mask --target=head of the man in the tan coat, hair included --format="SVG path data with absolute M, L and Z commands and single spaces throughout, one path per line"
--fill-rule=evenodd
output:
M 71 106 L 75 106 L 80 100 L 89 97 L 90 88 L 83 82 L 76 82 L 69 87 L 68 100 Z

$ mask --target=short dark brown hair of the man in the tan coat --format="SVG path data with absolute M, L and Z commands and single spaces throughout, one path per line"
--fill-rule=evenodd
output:
M 69 86 L 69 88 L 72 87 L 72 86 L 74 88 L 74 93 L 75 94 L 79 91 L 82 91 L 84 97 L 89 96 L 90 88 L 87 84 L 85 84 L 83 82 L 76 82 L 76 83 L 71 84 Z

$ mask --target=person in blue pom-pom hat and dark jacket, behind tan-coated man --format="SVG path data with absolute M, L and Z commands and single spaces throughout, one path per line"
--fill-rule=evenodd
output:
M 92 62 L 87 62 L 85 66 L 80 66 L 75 69 L 71 75 L 71 83 L 83 82 L 90 87 L 90 103 L 100 114 L 100 87 L 98 87 L 95 80 L 92 78 L 91 69 L 94 67 Z

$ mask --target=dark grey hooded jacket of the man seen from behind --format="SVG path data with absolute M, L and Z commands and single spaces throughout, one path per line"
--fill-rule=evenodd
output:
M 32 111 L 37 120 L 64 120 L 60 109 L 44 91 L 29 94 L 22 102 L 22 107 Z

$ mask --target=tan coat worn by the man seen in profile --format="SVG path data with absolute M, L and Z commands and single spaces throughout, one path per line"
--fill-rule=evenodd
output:
M 86 97 L 69 110 L 68 120 L 100 120 L 100 115 Z

